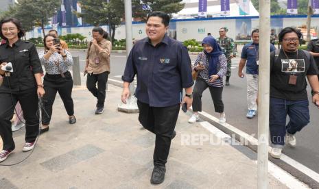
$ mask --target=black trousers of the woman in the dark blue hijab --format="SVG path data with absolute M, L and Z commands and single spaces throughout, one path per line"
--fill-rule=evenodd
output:
M 203 79 L 196 79 L 193 89 L 193 112 L 202 112 L 202 92 L 209 88 L 211 98 L 213 99 L 215 112 L 224 112 L 224 103 L 222 101 L 222 87 L 209 86 Z

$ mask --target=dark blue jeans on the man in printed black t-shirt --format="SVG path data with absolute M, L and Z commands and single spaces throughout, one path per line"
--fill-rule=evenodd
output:
M 286 125 L 287 115 L 290 118 Z M 309 102 L 270 98 L 270 141 L 276 147 L 285 144 L 285 134 L 296 134 L 309 123 Z M 279 146 L 280 145 L 280 146 Z

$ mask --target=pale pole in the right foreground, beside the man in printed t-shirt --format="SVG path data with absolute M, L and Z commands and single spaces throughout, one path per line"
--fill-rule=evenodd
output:
M 259 87 L 257 187 L 268 188 L 270 94 L 270 0 L 259 0 Z

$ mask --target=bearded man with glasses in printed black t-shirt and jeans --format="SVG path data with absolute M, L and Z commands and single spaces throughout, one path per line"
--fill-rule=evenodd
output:
M 296 28 L 285 27 L 279 33 L 281 49 L 270 53 L 270 155 L 274 158 L 281 157 L 285 142 L 296 147 L 294 135 L 309 123 L 306 77 L 314 91 L 312 102 L 319 105 L 318 68 L 308 51 L 298 49 L 301 36 Z M 291 62 L 296 68 L 289 68 Z

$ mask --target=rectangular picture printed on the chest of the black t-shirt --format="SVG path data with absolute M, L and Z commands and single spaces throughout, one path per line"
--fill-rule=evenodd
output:
M 284 73 L 305 72 L 305 60 L 303 60 L 303 59 L 281 59 L 281 71 Z

